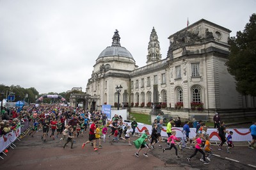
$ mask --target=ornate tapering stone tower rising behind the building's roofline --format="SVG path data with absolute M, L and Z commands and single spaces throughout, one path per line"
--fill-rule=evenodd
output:
M 160 45 L 158 41 L 158 36 L 155 27 L 153 27 L 150 34 L 150 40 L 148 42 L 148 55 L 147 55 L 147 65 L 160 61 L 162 55 L 160 53 Z

